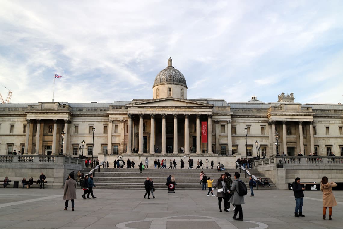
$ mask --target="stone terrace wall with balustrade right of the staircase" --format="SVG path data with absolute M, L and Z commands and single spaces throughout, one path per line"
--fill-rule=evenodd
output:
M 279 160 L 283 169 L 277 169 Z M 255 168 L 269 177 L 278 188 L 288 188 L 299 177 L 304 183 L 320 183 L 323 176 L 329 181 L 343 182 L 343 157 L 271 157 L 255 162 Z

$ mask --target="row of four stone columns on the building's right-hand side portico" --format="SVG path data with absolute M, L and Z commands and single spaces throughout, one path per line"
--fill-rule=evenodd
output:
M 282 121 L 282 141 L 283 141 L 283 151 L 287 153 L 287 134 L 286 134 L 286 122 Z M 310 121 L 310 144 L 311 144 L 311 152 L 315 152 L 315 141 L 313 137 L 313 121 Z M 275 133 L 275 121 L 270 122 L 272 131 L 269 134 L 269 142 L 274 142 L 273 135 Z M 300 152 L 303 152 L 304 150 L 304 137 L 303 137 L 303 121 L 298 121 L 299 124 L 299 144 L 300 144 Z M 273 145 L 273 152 L 276 152 L 276 145 Z M 280 152 L 279 152 L 280 153 Z M 281 154 L 281 153 L 280 153 Z

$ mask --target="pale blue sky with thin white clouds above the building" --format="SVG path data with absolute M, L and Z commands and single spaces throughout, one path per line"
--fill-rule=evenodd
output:
M 152 99 L 169 57 L 187 99 L 343 103 L 343 2 L 1 1 L 12 103 Z

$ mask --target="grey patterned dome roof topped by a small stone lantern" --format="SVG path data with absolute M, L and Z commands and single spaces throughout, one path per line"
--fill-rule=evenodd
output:
M 169 57 L 168 67 L 157 74 L 153 88 L 160 84 L 179 84 L 188 89 L 184 75 L 182 75 L 179 70 L 175 69 L 173 65 L 171 65 L 171 62 L 173 62 L 173 60 Z

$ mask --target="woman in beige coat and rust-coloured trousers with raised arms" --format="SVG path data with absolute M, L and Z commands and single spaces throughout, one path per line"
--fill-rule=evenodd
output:
M 327 207 L 329 207 L 329 219 L 331 219 L 332 207 L 337 206 L 335 196 L 332 193 L 332 187 L 336 186 L 335 182 L 328 182 L 328 178 L 323 176 L 320 182 L 320 191 L 323 192 L 323 219 L 325 219 Z

